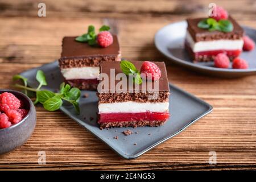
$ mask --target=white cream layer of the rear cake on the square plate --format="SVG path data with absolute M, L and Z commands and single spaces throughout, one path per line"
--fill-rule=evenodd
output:
M 95 79 L 100 74 L 100 67 L 64 68 L 61 73 L 67 80 Z

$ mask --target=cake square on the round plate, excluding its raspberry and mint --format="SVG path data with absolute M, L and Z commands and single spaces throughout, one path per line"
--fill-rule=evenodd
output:
M 226 53 L 233 60 L 239 56 L 243 47 L 243 28 L 229 16 L 233 31 L 209 31 L 197 27 L 204 18 L 187 19 L 188 27 L 185 36 L 185 49 L 193 61 L 212 61 L 218 53 Z

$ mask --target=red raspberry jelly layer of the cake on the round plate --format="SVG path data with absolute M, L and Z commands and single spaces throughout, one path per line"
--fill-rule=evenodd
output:
M 217 56 L 218 53 L 225 53 L 228 57 L 237 57 L 240 55 L 241 50 L 214 50 L 214 51 L 203 51 L 203 52 L 194 52 L 195 57 L 199 56 Z

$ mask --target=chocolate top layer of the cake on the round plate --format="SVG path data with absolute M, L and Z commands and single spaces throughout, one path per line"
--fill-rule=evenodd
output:
M 187 19 L 188 31 L 195 42 L 205 40 L 218 40 L 218 39 L 241 39 L 243 36 L 243 28 L 229 16 L 230 22 L 233 23 L 234 29 L 232 32 L 208 31 L 207 29 L 197 27 L 197 24 L 205 18 Z

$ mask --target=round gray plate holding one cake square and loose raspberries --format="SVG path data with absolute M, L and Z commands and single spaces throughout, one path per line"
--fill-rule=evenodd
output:
M 256 42 L 256 30 L 244 27 L 246 35 L 250 36 Z M 183 67 L 192 71 L 205 73 L 220 77 L 241 77 L 256 74 L 256 49 L 250 52 L 242 52 L 241 57 L 248 61 L 248 69 L 222 69 L 215 68 L 213 62 L 193 63 L 188 53 L 184 49 L 185 33 L 187 31 L 187 22 L 181 21 L 168 24 L 161 28 L 155 35 L 155 46 L 164 56 Z M 231 66 L 231 65 L 230 65 Z

